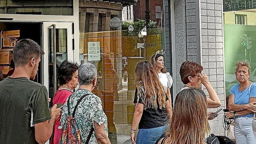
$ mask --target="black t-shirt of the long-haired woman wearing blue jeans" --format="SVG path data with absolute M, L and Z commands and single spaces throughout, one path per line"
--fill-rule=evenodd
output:
M 135 95 L 134 95 L 134 101 L 133 103 L 136 104 L 138 100 L 138 90 L 136 88 Z M 166 101 L 168 100 L 168 97 L 166 96 Z M 138 103 L 143 104 L 143 100 L 141 97 L 139 97 Z M 156 127 L 161 127 L 163 125 L 166 125 L 168 122 L 168 115 L 166 113 L 166 109 L 159 108 L 159 104 L 157 102 L 158 108 L 152 109 L 147 108 L 146 110 L 143 109 L 141 121 L 139 123 L 139 129 L 152 129 Z

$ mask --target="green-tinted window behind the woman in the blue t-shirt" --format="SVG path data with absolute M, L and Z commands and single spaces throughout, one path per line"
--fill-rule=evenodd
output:
M 250 81 L 256 81 L 256 9 L 224 12 L 226 96 L 238 83 L 236 63 L 250 63 Z

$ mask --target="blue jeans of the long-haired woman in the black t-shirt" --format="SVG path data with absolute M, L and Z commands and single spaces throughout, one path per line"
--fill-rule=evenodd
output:
M 166 126 L 139 129 L 136 144 L 155 144 L 166 131 Z

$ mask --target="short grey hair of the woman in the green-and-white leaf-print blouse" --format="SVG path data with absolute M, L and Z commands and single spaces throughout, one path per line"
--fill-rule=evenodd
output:
M 89 85 L 97 76 L 97 69 L 91 63 L 83 63 L 78 68 L 80 85 Z

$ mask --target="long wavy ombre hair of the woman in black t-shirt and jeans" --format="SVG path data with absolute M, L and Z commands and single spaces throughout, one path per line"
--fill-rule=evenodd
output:
M 166 93 L 150 62 L 143 61 L 137 64 L 135 84 L 138 89 L 138 99 L 141 97 L 144 102 L 144 109 L 165 108 Z

